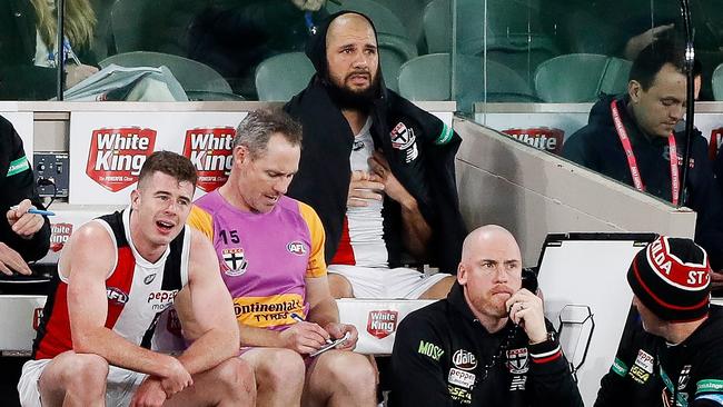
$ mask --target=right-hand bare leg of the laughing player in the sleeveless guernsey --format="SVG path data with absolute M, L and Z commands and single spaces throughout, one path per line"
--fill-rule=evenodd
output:
M 192 376 L 194 385 L 166 400 L 165 407 L 252 407 L 256 405 L 254 371 L 246 361 L 231 358 Z

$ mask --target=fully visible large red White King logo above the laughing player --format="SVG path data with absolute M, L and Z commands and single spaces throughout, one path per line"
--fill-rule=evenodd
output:
M 140 168 L 153 152 L 156 130 L 138 127 L 93 130 L 86 175 L 111 192 L 138 181 Z

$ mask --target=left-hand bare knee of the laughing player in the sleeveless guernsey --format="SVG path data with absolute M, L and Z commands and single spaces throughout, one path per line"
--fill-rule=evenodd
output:
M 47 407 L 105 406 L 108 361 L 93 354 L 68 350 L 46 366 L 38 380 Z

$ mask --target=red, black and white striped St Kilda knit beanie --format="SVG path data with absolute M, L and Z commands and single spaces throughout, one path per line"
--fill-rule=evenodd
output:
M 693 240 L 661 236 L 638 251 L 627 270 L 637 298 L 658 318 L 689 321 L 705 317 L 711 297 L 711 266 Z

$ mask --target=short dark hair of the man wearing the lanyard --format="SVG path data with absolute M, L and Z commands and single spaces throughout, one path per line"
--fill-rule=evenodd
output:
M 641 85 L 643 90 L 653 86 L 655 76 L 664 64 L 672 64 L 679 72 L 685 72 L 685 47 L 676 39 L 661 38 L 645 47 L 633 61 L 630 80 Z

